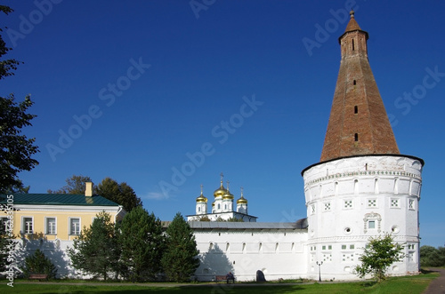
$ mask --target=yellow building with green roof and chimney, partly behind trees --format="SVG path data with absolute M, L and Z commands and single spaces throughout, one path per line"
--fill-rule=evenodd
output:
M 89 227 L 99 212 L 109 213 L 115 222 L 126 213 L 122 205 L 93 195 L 93 183 L 86 183 L 85 195 L 13 194 L 4 195 L 0 203 L 13 208 L 9 229 L 20 240 L 18 250 L 43 250 L 58 267 L 58 276 L 77 275 L 69 266 L 67 247 L 72 247 L 83 227 Z M 3 230 L 7 230 L 7 217 L 4 214 L 0 219 Z

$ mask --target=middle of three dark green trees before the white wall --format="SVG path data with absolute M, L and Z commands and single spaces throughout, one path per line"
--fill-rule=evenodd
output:
M 138 206 L 125 215 L 118 228 L 125 275 L 138 282 L 154 279 L 161 270 L 164 248 L 161 221 Z

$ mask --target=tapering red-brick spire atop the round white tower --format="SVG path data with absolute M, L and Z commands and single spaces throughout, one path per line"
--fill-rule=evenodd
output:
M 342 60 L 320 161 L 352 156 L 400 154 L 368 62 L 368 33 L 351 13 L 338 38 Z

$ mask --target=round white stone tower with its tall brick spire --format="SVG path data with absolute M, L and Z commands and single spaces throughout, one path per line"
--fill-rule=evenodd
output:
M 354 13 L 339 37 L 341 63 L 320 163 L 302 171 L 308 277 L 356 279 L 369 237 L 392 234 L 407 258 L 390 274 L 419 271 L 418 201 L 424 161 L 401 155 L 368 63 L 368 33 Z M 318 264 L 317 264 L 318 263 Z

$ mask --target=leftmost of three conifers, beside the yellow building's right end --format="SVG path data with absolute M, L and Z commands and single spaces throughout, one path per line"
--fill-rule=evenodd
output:
M 101 275 L 107 280 L 110 273 L 117 273 L 120 249 L 115 225 L 109 213 L 96 215 L 90 227 L 84 226 L 68 250 L 72 265 L 86 274 Z

